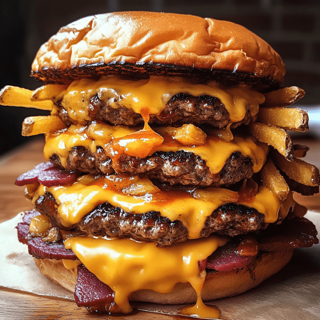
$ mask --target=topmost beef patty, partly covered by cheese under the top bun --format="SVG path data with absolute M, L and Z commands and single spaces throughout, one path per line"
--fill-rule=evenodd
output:
M 112 101 L 114 103 L 114 101 Z M 62 106 L 61 100 L 57 102 L 58 116 L 67 125 L 73 120 L 67 110 Z M 143 123 L 142 116 L 132 109 L 118 104 L 112 108 L 108 101 L 102 101 L 95 95 L 89 102 L 90 121 L 100 120 L 111 124 L 124 124 L 135 126 Z M 252 121 L 250 111 L 247 111 L 241 121 L 234 122 L 231 129 L 240 124 L 249 124 Z M 174 124 L 210 124 L 213 127 L 223 128 L 229 123 L 229 113 L 220 99 L 211 96 L 193 97 L 189 94 L 178 93 L 171 98 L 159 115 L 150 115 L 149 123 Z

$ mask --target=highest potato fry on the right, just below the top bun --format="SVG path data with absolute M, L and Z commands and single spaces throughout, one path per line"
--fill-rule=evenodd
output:
M 304 97 L 304 90 L 299 87 L 287 87 L 265 93 L 265 102 L 260 107 L 284 107 L 290 106 Z

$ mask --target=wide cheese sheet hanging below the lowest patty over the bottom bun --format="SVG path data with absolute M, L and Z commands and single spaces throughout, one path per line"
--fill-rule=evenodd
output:
M 130 295 L 138 290 L 169 293 L 177 283 L 190 283 L 200 294 L 205 271 L 198 261 L 206 259 L 228 237 L 211 235 L 160 247 L 153 242 L 107 237 L 73 237 L 65 241 L 79 260 L 114 291 L 116 305 L 109 311 L 128 313 Z

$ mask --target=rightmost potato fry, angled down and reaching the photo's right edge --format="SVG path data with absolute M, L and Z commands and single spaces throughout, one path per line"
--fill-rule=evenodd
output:
M 319 186 L 319 170 L 314 165 L 296 158 L 289 162 L 275 150 L 272 152 L 272 158 L 276 166 L 292 180 L 305 186 Z

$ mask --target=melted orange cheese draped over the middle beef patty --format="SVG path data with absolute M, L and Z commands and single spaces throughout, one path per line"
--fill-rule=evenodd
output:
M 116 170 L 117 159 L 125 156 L 139 158 L 152 155 L 156 151 L 180 150 L 192 152 L 206 162 L 212 173 L 218 173 L 232 153 L 239 151 L 243 156 L 249 156 L 253 163 L 253 172 L 261 170 L 266 161 L 268 147 L 266 144 L 254 143 L 250 138 L 233 137 L 231 141 L 220 139 L 216 135 L 208 135 L 206 143 L 200 146 L 184 146 L 170 134 L 163 137 L 152 130 L 130 128 L 122 125 L 92 123 L 89 126 L 71 125 L 62 132 L 46 134 L 44 157 L 56 154 L 61 164 L 66 166 L 69 152 L 73 147 L 84 146 L 96 152 L 98 146 L 114 161 Z

